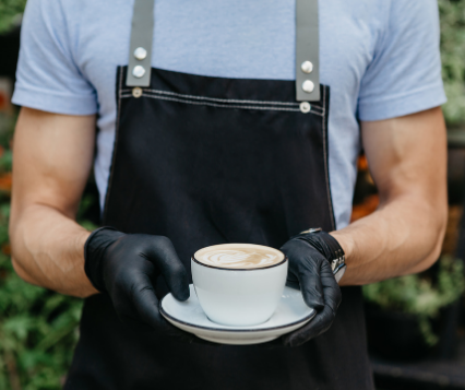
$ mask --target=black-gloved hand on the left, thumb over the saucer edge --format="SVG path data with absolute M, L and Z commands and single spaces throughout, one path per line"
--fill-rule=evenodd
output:
M 158 310 L 154 283 L 160 274 L 176 299 L 189 298 L 188 273 L 169 238 L 102 227 L 87 238 L 84 258 L 87 277 L 98 291 L 108 293 L 124 323 L 188 342 L 196 339 L 172 327 Z

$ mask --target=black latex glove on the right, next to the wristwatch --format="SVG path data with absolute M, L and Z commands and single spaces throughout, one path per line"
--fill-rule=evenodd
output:
M 317 310 L 309 323 L 283 338 L 285 345 L 298 346 L 324 333 L 333 323 L 342 295 L 330 262 L 344 251 L 324 232 L 295 236 L 281 250 L 289 259 L 286 285 L 300 289 L 306 304 Z

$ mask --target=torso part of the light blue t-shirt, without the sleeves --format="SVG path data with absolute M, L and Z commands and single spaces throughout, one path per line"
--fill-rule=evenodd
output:
M 320 4 L 321 82 L 331 87 L 330 179 L 338 227 L 348 223 L 359 150 L 361 79 L 386 23 L 382 1 Z M 95 165 L 103 205 L 115 138 L 116 67 L 128 63 L 132 1 L 63 3 L 73 58 L 98 99 Z M 155 3 L 152 66 L 233 79 L 295 79 L 295 1 Z

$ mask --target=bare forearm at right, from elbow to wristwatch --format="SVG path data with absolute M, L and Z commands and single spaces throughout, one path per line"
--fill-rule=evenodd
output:
M 440 255 L 445 223 L 445 200 L 430 204 L 418 196 L 404 196 L 331 233 L 346 253 L 341 284 L 362 285 L 424 271 Z

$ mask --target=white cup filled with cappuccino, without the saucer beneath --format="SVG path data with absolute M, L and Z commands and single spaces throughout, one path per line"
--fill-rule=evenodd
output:
M 277 249 L 224 244 L 196 251 L 191 260 L 199 303 L 210 320 L 235 327 L 267 321 L 287 277 L 287 258 Z

